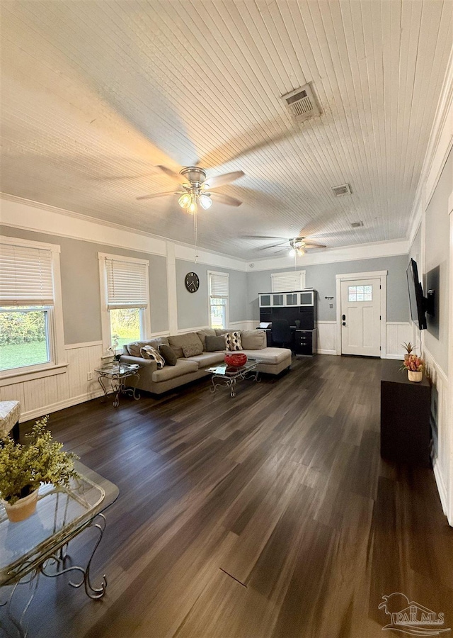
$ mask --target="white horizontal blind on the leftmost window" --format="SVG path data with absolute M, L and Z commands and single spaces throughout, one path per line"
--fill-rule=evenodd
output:
M 52 250 L 0 244 L 0 305 L 52 306 Z

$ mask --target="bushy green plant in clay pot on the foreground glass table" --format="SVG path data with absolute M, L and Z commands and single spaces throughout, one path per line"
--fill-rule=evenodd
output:
M 67 486 L 79 476 L 74 469 L 79 457 L 63 452 L 63 444 L 47 430 L 47 420 L 45 416 L 33 425 L 23 445 L 9 436 L 0 442 L 0 497 L 11 522 L 33 514 L 41 483 Z

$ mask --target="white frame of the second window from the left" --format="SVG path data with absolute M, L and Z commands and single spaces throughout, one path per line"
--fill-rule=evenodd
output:
M 144 264 L 146 289 L 147 289 L 147 306 L 143 308 L 141 305 L 131 306 L 127 308 L 139 308 L 140 318 L 140 340 L 146 341 L 151 338 L 151 311 L 149 303 L 149 260 L 138 259 L 137 257 L 125 257 L 122 254 L 111 254 L 105 252 L 98 252 L 99 261 L 99 283 L 101 289 L 101 329 L 102 329 L 102 342 L 103 351 L 106 353 L 112 345 L 112 333 L 110 328 L 110 310 L 107 308 L 108 303 L 108 289 L 107 289 L 107 269 L 105 268 L 105 260 L 113 259 L 120 262 L 131 262 L 135 264 Z M 122 348 L 117 349 L 117 352 L 122 352 Z M 103 355 L 104 357 L 106 354 Z

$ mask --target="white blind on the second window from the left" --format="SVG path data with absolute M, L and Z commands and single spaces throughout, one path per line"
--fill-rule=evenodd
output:
M 147 308 L 147 264 L 105 258 L 107 308 Z

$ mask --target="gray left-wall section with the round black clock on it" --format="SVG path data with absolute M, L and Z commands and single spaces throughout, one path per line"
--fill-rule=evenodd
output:
M 247 273 L 238 270 L 195 264 L 176 259 L 176 294 L 178 301 L 178 328 L 188 330 L 209 325 L 207 272 L 226 272 L 229 274 L 229 320 L 243 321 L 247 299 Z M 200 288 L 190 293 L 185 288 L 185 275 L 196 272 L 200 278 Z

